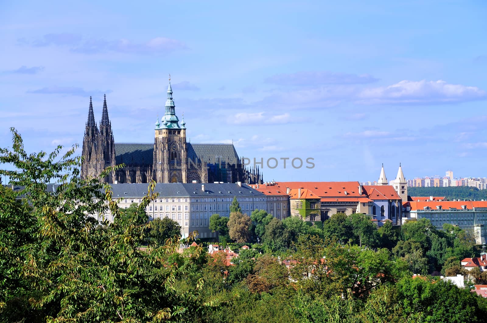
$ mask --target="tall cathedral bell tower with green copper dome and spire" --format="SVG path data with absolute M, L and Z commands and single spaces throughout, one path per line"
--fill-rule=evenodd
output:
M 158 183 L 187 182 L 187 144 L 186 123 L 179 125 L 172 99 L 171 78 L 169 75 L 166 112 L 155 124 L 154 139 L 154 180 Z

